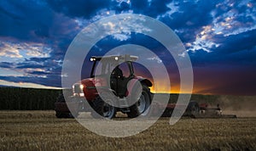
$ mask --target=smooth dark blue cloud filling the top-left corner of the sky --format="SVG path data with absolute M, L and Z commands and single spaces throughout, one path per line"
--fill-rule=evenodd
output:
M 42 42 L 58 49 L 79 32 L 77 23 L 49 8 L 41 1 L 1 1 L 0 36 L 14 37 L 21 42 Z M 65 43 L 65 44 L 64 44 Z

